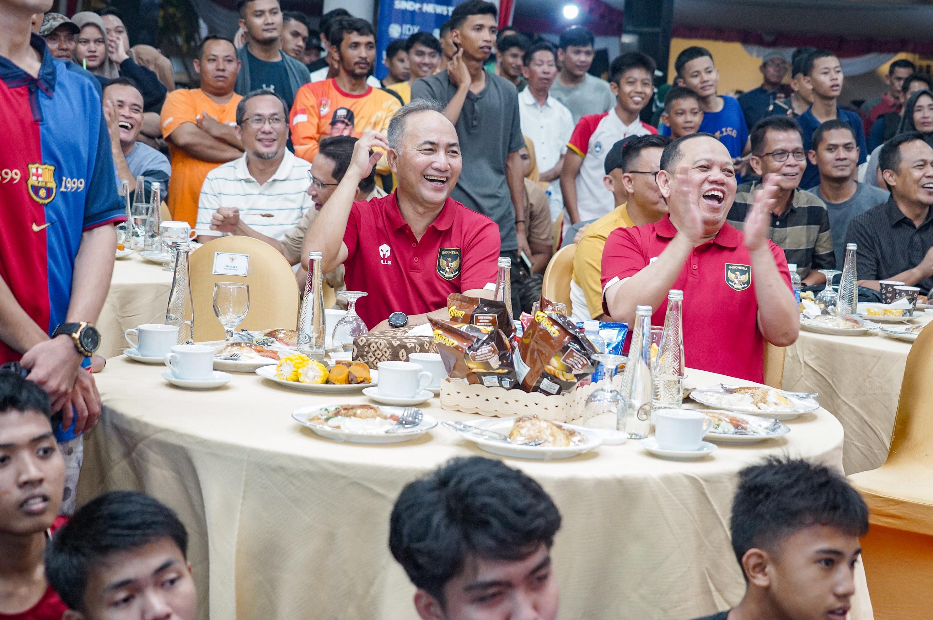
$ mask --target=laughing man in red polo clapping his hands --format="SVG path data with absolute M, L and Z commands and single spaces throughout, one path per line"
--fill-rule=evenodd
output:
M 693 133 L 664 148 L 658 187 L 670 214 L 609 235 L 604 310 L 631 322 L 635 306 L 647 304 L 651 324 L 662 325 L 667 292 L 683 290 L 687 365 L 761 382 L 764 340 L 786 347 L 800 331 L 784 251 L 768 239 L 772 181 L 765 178 L 743 233 L 726 223 L 735 198 L 726 147 Z

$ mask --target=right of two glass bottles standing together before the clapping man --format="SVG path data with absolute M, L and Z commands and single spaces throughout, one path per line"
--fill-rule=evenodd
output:
M 658 357 L 651 368 L 654 381 L 654 409 L 679 409 L 684 387 L 684 292 L 673 289 L 667 294 L 667 315 L 661 332 Z

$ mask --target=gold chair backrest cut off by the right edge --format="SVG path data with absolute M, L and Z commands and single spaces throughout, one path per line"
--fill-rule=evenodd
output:
M 900 383 L 887 461 L 923 461 L 933 467 L 933 327 L 913 341 Z

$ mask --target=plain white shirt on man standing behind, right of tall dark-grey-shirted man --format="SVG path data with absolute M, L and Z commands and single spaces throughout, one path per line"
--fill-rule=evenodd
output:
M 522 121 L 522 133 L 528 136 L 535 145 L 538 171 L 549 171 L 567 152 L 567 143 L 574 132 L 573 115 L 564 103 L 550 95 L 544 105 L 538 105 L 535 95 L 528 90 L 528 87 L 519 93 L 519 114 Z M 555 220 L 564 209 L 560 178 L 550 182 L 548 201 L 550 219 Z

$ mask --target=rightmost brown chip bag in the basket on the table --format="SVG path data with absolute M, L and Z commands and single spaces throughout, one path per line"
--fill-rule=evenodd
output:
M 538 310 L 515 351 L 515 374 L 525 392 L 563 394 L 590 377 L 598 352 L 569 318 Z

